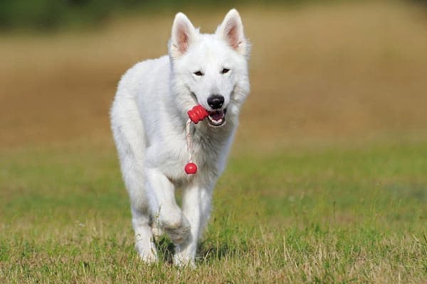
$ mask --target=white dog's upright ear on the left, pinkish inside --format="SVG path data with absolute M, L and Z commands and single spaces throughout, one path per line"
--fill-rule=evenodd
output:
M 186 53 L 197 34 L 196 28 L 184 13 L 177 13 L 172 25 L 172 36 L 169 43 L 169 53 L 176 59 Z

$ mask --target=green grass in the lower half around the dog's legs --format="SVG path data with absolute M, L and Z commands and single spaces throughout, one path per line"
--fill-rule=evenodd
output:
M 427 282 L 427 143 L 233 155 L 195 270 L 138 261 L 115 150 L 81 145 L 0 152 L 0 283 Z

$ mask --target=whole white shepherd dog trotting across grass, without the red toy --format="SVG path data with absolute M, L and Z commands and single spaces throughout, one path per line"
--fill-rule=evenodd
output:
M 169 56 L 139 62 L 120 80 L 111 127 L 143 261 L 157 261 L 153 239 L 165 231 L 176 245 L 174 264 L 194 266 L 212 191 L 249 93 L 248 58 L 249 43 L 235 9 L 214 34 L 199 33 L 184 13 L 177 13 Z M 196 104 L 209 117 L 191 126 L 199 171 L 186 175 L 186 111 Z M 176 187 L 183 189 L 182 209 Z

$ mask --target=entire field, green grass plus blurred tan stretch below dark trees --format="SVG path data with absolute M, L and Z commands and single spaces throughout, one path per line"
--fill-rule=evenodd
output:
M 427 283 L 425 13 L 239 10 L 252 93 L 195 270 L 167 238 L 138 261 L 107 119 L 173 15 L 0 35 L 0 283 Z M 188 14 L 212 31 L 223 13 Z

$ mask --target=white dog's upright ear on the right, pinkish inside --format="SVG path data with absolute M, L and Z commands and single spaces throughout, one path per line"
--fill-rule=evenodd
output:
M 228 11 L 226 18 L 216 29 L 216 34 L 241 55 L 248 55 L 249 43 L 243 34 L 243 23 L 236 9 Z

